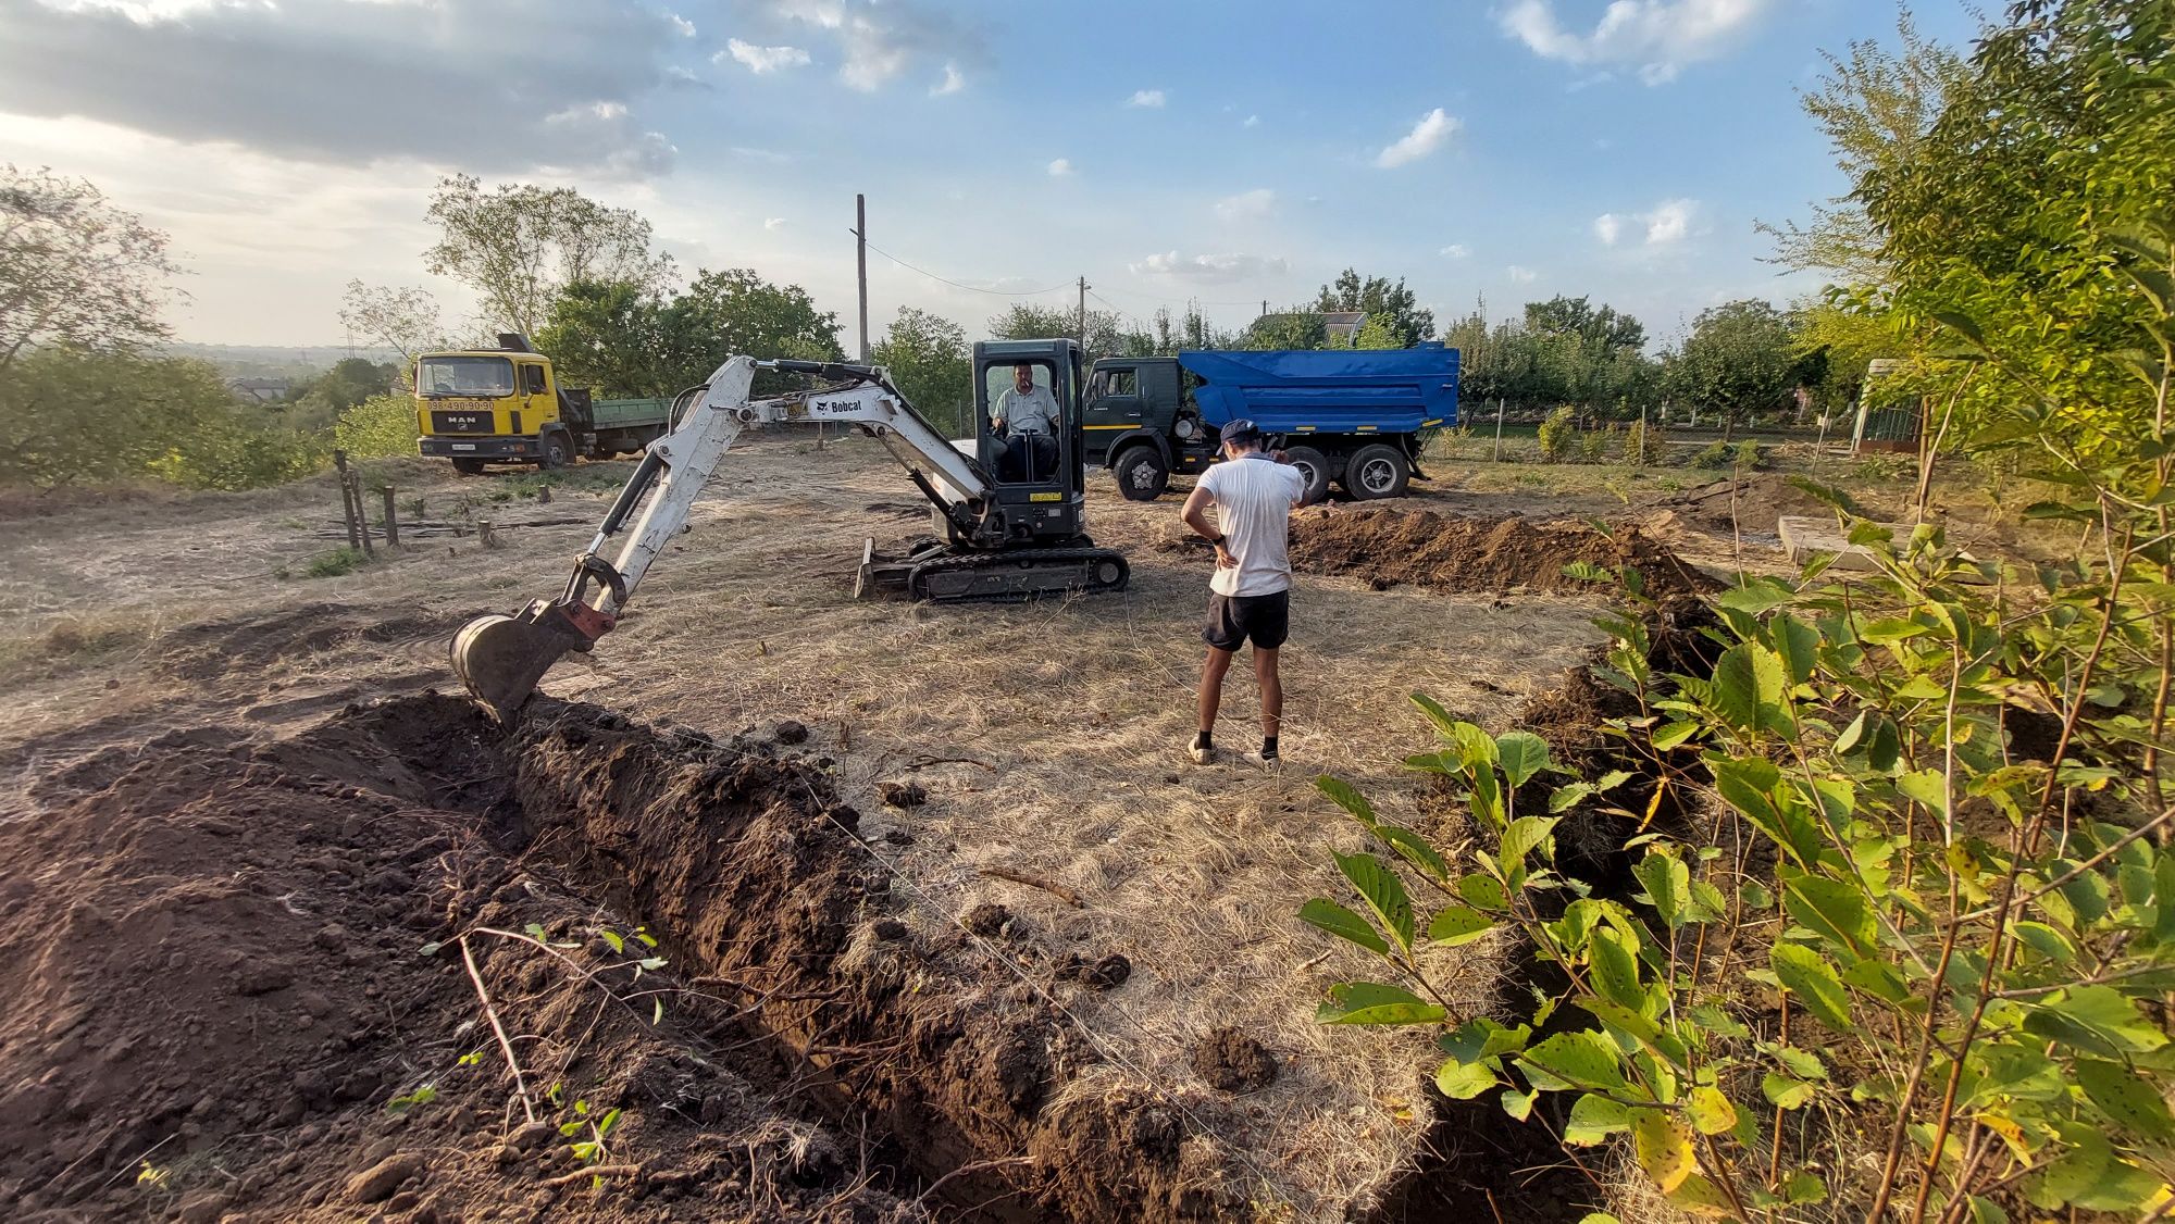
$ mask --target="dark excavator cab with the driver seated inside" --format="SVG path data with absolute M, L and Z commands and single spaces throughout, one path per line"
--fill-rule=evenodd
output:
M 998 420 L 1000 413 L 1005 420 Z M 1088 463 L 1079 344 L 977 344 L 974 435 L 977 459 L 990 472 L 1005 515 L 1007 539 L 1051 546 L 1083 535 Z

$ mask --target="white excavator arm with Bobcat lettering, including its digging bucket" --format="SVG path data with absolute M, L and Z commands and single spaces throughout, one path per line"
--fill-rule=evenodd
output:
M 750 400 L 757 370 L 811 374 L 842 387 Z M 1003 539 L 990 476 L 922 420 L 877 365 L 733 357 L 709 376 L 670 433 L 650 444 L 557 600 L 483 615 L 452 639 L 452 670 L 496 717 L 518 711 L 570 650 L 611 633 L 650 563 L 685 526 L 696 496 L 739 433 L 759 424 L 857 424 L 883 437 L 959 539 Z M 613 541 L 618 552 L 607 557 Z

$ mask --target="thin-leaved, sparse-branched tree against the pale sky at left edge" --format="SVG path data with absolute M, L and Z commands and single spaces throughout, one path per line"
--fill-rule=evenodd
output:
M 126 352 L 167 337 L 167 237 L 83 178 L 0 165 L 0 372 L 28 348 Z

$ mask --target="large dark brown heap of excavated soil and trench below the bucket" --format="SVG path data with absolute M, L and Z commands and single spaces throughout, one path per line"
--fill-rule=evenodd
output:
M 13 1217 L 1242 1209 L 1183 1109 L 900 922 L 822 763 L 774 744 L 422 696 L 163 735 L 33 794 L 0 824 Z

